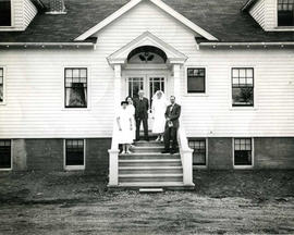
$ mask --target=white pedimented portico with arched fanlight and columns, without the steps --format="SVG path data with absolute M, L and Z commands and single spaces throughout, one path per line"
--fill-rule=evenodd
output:
M 132 54 L 138 48 L 146 47 L 152 48 L 151 51 L 147 52 L 150 55 L 154 55 L 156 62 L 149 63 L 148 54 L 146 54 L 146 63 L 132 63 L 132 61 L 130 61 L 132 60 L 132 57 L 130 57 L 130 54 Z M 146 51 L 143 52 L 146 53 Z M 134 53 L 134 57 L 136 53 Z M 161 62 L 160 58 L 162 59 Z M 145 58 L 140 59 L 142 61 L 145 60 Z M 132 40 L 130 44 L 122 47 L 120 50 L 113 52 L 111 55 L 108 57 L 107 60 L 109 64 L 114 69 L 115 103 L 120 103 L 120 100 L 125 97 L 125 95 L 133 95 L 134 90 L 130 90 L 130 86 L 132 89 L 134 87 L 133 85 L 135 85 L 135 87 L 142 86 L 143 89 L 146 89 L 148 97 L 150 97 L 152 95 L 151 92 L 155 90 L 150 86 L 162 86 L 160 79 L 164 81 L 163 86 L 169 95 L 174 95 L 179 99 L 181 98 L 181 66 L 187 60 L 187 57 L 177 51 L 172 46 L 161 40 L 160 38 L 158 38 L 157 36 L 155 36 L 154 34 L 145 32 L 144 34 Z M 154 78 L 154 82 L 156 82 L 156 84 L 150 83 L 150 78 Z M 148 88 L 145 88 L 144 86 L 146 86 L 147 84 Z M 168 90 L 168 87 L 173 87 L 173 90 Z

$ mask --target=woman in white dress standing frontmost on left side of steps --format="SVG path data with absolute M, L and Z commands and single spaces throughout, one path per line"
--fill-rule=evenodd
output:
M 133 143 L 133 122 L 126 101 L 121 102 L 121 109 L 117 114 L 117 127 L 118 139 L 119 144 L 123 146 L 123 153 L 132 153 L 130 145 Z

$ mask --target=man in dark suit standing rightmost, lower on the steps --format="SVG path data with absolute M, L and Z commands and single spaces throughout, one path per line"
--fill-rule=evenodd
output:
M 164 151 L 162 153 L 175 153 L 177 147 L 177 129 L 180 127 L 179 119 L 181 116 L 181 106 L 175 103 L 175 97 L 171 96 L 171 104 L 166 111 L 166 131 L 164 131 Z M 171 148 L 172 141 L 172 148 Z

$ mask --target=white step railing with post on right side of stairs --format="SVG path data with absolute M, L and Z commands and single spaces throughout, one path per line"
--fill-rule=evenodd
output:
M 193 150 L 188 147 L 188 139 L 182 124 L 177 131 L 177 141 L 183 166 L 183 183 L 185 186 L 195 186 L 193 183 Z

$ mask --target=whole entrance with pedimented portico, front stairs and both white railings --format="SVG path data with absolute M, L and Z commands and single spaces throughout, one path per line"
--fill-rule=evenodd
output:
M 145 32 L 108 57 L 114 69 L 115 107 L 119 108 L 126 96 L 136 97 L 140 89 L 149 99 L 157 90 L 163 90 L 181 100 L 181 66 L 186 60 L 185 54 Z M 119 154 L 119 143 L 113 132 L 109 150 L 109 186 L 194 186 L 192 150 L 182 126 L 179 129 L 177 156 L 166 156 L 162 160 L 164 156 L 160 154 L 158 146 L 140 145 L 135 143 L 135 153 L 125 159 Z M 144 174 L 143 170 L 147 173 Z

